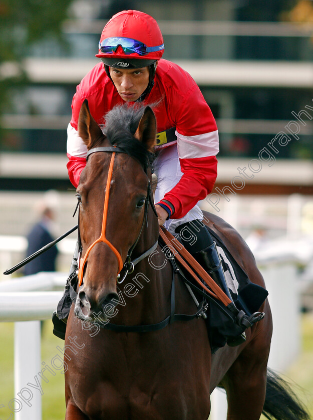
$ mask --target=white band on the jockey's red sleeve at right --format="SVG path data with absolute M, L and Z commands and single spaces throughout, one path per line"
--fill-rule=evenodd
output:
M 182 135 L 176 130 L 175 134 L 181 159 L 215 156 L 219 152 L 218 130 L 198 135 Z

